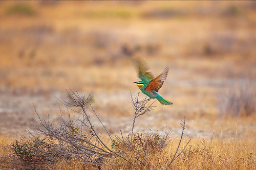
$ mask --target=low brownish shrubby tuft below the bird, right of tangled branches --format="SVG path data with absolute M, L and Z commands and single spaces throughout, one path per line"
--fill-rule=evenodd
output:
M 156 154 L 162 153 L 169 145 L 170 138 L 168 134 L 169 132 L 160 136 L 151 132 L 148 134 L 136 133 L 132 141 L 129 136 L 125 139 L 123 137 L 120 139 L 116 136 L 116 139 L 112 142 L 112 148 L 129 160 L 131 164 L 113 155 L 113 157 L 105 161 L 103 167 L 105 166 L 106 169 L 155 169 L 156 165 L 152 162 L 152 158 Z

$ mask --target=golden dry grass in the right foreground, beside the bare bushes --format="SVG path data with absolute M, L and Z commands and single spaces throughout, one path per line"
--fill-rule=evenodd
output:
M 168 162 L 173 156 L 178 140 L 173 139 L 163 150 L 148 154 L 144 157 L 148 160 L 147 167 L 140 166 L 139 169 L 254 169 L 256 157 L 250 144 L 230 140 L 194 140 L 183 154 L 170 166 Z M 186 143 L 183 142 L 184 146 Z M 127 152 L 131 160 L 136 160 L 135 154 Z M 136 169 L 122 160 L 112 157 L 102 166 L 102 169 Z

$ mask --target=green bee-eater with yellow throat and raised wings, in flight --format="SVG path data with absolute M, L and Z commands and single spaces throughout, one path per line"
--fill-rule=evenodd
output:
M 162 87 L 164 80 L 166 80 L 169 67 L 166 67 L 163 72 L 154 79 L 153 74 L 150 71 L 147 71 L 147 67 L 140 61 L 136 61 L 138 69 L 138 77 L 141 81 L 134 82 L 137 84 L 142 93 L 146 94 L 152 99 L 157 99 L 162 105 L 173 105 L 172 102 L 169 102 L 162 98 L 158 94 L 158 90 Z

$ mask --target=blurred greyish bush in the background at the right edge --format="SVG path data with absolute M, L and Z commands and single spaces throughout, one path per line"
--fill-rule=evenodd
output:
M 249 116 L 256 113 L 256 86 L 251 80 L 234 81 L 219 95 L 220 115 Z

